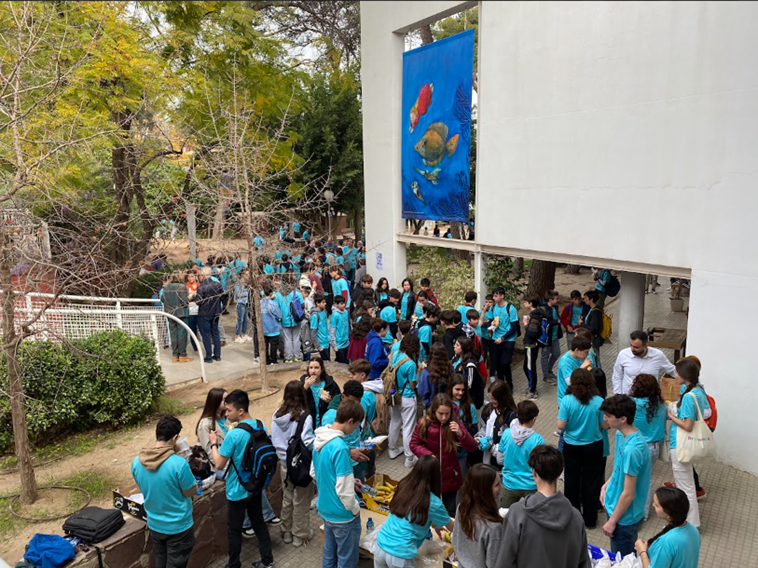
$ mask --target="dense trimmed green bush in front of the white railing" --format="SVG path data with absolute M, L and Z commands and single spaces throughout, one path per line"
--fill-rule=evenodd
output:
M 23 342 L 18 351 L 33 442 L 99 424 L 134 423 L 162 395 L 155 346 L 115 330 L 66 345 Z M 13 440 L 8 367 L 0 358 L 0 450 Z

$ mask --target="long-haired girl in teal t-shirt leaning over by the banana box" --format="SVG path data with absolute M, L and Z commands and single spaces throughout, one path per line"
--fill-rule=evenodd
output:
M 432 524 L 438 532 L 443 527 L 453 529 L 453 521 L 440 499 L 441 485 L 437 458 L 418 458 L 411 473 L 397 484 L 390 515 L 379 528 L 374 566 L 413 566 Z

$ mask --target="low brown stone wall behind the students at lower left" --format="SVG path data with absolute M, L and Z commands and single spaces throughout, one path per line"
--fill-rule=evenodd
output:
M 282 488 L 279 472 L 266 490 L 271 507 L 279 514 L 282 502 Z M 152 541 L 144 521 L 124 513 L 127 523 L 111 538 L 98 544 L 102 551 L 104 568 L 155 568 Z M 227 541 L 227 498 L 224 483 L 215 482 L 193 507 L 195 538 L 197 539 L 187 568 L 205 568 L 211 560 L 228 553 Z M 70 566 L 76 568 L 98 568 L 96 551 L 80 552 Z

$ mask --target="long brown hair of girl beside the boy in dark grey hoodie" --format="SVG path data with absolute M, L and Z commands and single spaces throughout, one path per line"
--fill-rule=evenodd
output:
M 474 539 L 478 520 L 503 522 L 492 495 L 492 486 L 499 475 L 494 467 L 486 463 L 477 463 L 466 473 L 456 517 L 466 538 Z

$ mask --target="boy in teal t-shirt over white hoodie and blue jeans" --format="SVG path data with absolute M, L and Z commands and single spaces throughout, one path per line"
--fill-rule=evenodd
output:
M 324 566 L 356 566 L 361 539 L 361 516 L 355 476 L 345 436 L 365 417 L 356 401 L 343 401 L 334 423 L 316 429 L 311 476 L 318 486 L 318 514 L 324 519 Z M 339 564 L 337 563 L 339 559 Z

